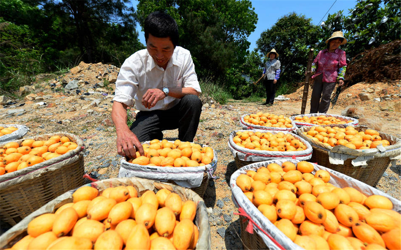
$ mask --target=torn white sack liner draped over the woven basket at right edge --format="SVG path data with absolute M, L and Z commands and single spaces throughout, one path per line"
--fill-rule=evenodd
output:
M 345 124 L 343 124 L 345 125 Z M 377 148 L 369 149 L 352 149 L 343 145 L 338 146 L 326 146 L 322 142 L 311 140 L 303 132 L 310 130 L 310 127 L 298 128 L 295 132 L 298 136 L 308 140 L 310 144 L 316 146 L 322 150 L 327 151 L 329 161 L 331 164 L 342 165 L 347 159 L 353 159 L 351 161 L 354 167 L 366 167 L 368 165 L 367 161 L 379 158 L 379 157 L 389 157 L 392 164 L 395 165 L 395 161 L 401 159 L 401 139 L 390 134 L 380 133 L 383 140 L 393 141 L 395 144 L 383 147 L 382 144 L 377 146 Z

